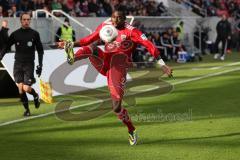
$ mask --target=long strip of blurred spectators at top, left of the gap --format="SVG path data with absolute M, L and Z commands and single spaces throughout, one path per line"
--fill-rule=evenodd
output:
M 108 17 L 115 8 L 133 16 L 161 16 L 167 11 L 155 0 L 1 0 L 0 17 L 18 17 L 37 9 L 63 10 L 75 17 Z

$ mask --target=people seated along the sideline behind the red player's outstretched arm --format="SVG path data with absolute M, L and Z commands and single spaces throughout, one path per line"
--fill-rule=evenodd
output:
M 143 29 L 147 38 L 152 41 L 161 52 L 161 57 L 164 61 L 179 62 L 179 60 L 181 60 L 180 54 L 184 54 L 184 62 L 202 60 L 200 54 L 192 52 L 191 48 L 185 45 L 183 25 L 184 22 L 180 21 L 178 25 L 164 28 L 159 32 L 149 32 Z M 133 61 L 138 62 L 136 63 L 137 67 L 151 67 L 155 60 L 146 48 L 139 45 L 133 54 Z

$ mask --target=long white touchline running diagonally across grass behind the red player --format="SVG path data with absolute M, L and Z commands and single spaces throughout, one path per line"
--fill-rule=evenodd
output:
M 196 77 L 196 78 L 190 78 L 190 79 L 182 80 L 182 81 L 179 81 L 179 82 L 173 82 L 172 85 L 179 85 L 179 84 L 189 83 L 189 82 L 193 82 L 193 81 L 197 81 L 197 80 L 201 80 L 201 79 L 205 79 L 205 78 L 209 78 L 209 77 L 214 77 L 214 76 L 218 76 L 218 75 L 222 75 L 222 74 L 226 74 L 226 73 L 230 73 L 230 72 L 234 72 L 234 71 L 240 71 L 240 67 L 234 68 L 234 69 L 230 69 L 230 70 L 226 70 L 226 71 L 222 71 L 222 72 L 207 74 L 207 75 Z M 158 87 L 156 89 L 158 89 Z M 151 90 L 153 90 L 153 89 L 151 89 Z M 148 91 L 149 90 L 147 89 L 147 90 L 144 90 L 142 92 L 138 92 L 136 94 L 144 93 L 144 92 L 148 92 Z M 76 108 L 79 108 L 79 107 L 88 106 L 88 105 L 98 104 L 100 102 L 107 101 L 109 99 L 110 98 L 105 99 L 105 100 L 101 100 L 101 101 L 98 100 L 98 101 L 94 101 L 94 102 L 90 102 L 90 103 L 86 103 L 86 104 L 82 104 L 82 105 L 78 105 L 78 106 L 73 106 L 73 107 L 70 107 L 69 110 L 76 109 Z M 59 112 L 62 112 L 62 111 L 59 111 Z M 52 114 L 55 114 L 55 113 L 56 113 L 55 111 L 52 111 L 52 112 L 40 114 L 40 115 L 37 115 L 37 116 L 31 116 L 31 117 L 28 117 L 28 118 L 21 118 L 21 119 L 17 119 L 17 120 L 13 120 L 13 121 L 0 123 L 0 127 L 11 125 L 11 124 L 15 124 L 15 123 L 19 123 L 19 122 L 23 122 L 23 121 L 27 121 L 27 120 L 31 120 L 31 119 L 37 119 L 37 118 L 41 118 L 41 117 L 46 117 L 46 116 L 49 116 L 49 115 L 52 115 Z

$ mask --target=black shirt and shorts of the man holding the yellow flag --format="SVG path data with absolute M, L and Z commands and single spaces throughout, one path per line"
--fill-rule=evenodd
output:
M 1 57 L 15 44 L 16 54 L 14 63 L 14 79 L 16 83 L 24 83 L 31 86 L 34 84 L 34 60 L 35 50 L 38 51 L 39 65 L 42 66 L 43 46 L 39 33 L 31 28 L 20 28 L 13 32 L 7 43 L 7 47 L 1 54 Z

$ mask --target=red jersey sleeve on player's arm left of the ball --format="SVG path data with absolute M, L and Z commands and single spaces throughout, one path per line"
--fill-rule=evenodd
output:
M 103 26 L 103 24 L 100 24 L 93 33 L 80 39 L 79 40 L 80 46 L 87 46 L 87 45 L 99 40 L 100 39 L 99 31 L 101 30 L 102 26 Z

